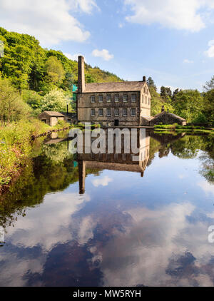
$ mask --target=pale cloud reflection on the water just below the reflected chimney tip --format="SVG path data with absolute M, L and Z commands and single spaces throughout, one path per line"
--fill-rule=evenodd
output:
M 7 230 L 6 237 L 14 245 L 28 248 L 41 245 L 48 252 L 56 243 L 72 239 L 72 233 L 68 230 L 71 215 L 88 200 L 88 195 L 80 196 L 77 193 L 65 193 L 63 196 L 61 193 L 48 194 L 42 208 L 29 210 L 26 217 L 20 217 L 16 228 Z

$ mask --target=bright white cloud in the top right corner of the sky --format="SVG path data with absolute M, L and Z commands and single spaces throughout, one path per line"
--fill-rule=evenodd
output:
M 126 20 L 138 24 L 158 23 L 170 29 L 200 31 L 205 28 L 200 9 L 213 9 L 213 0 L 124 0 L 133 11 Z

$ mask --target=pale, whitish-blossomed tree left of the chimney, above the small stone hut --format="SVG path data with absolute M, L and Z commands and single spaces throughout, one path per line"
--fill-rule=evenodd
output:
M 41 100 L 41 110 L 65 111 L 68 101 L 68 97 L 64 95 L 62 90 L 54 89 Z

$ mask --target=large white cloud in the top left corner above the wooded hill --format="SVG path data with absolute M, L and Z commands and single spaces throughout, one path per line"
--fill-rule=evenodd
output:
M 83 42 L 90 33 L 72 16 L 77 9 L 91 13 L 93 0 L 0 0 L 1 26 L 9 31 L 30 34 L 43 46 L 61 41 Z

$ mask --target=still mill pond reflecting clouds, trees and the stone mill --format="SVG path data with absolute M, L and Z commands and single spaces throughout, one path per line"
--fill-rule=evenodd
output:
M 61 135 L 1 195 L 1 286 L 214 285 L 213 135 L 150 131 L 135 163 Z

